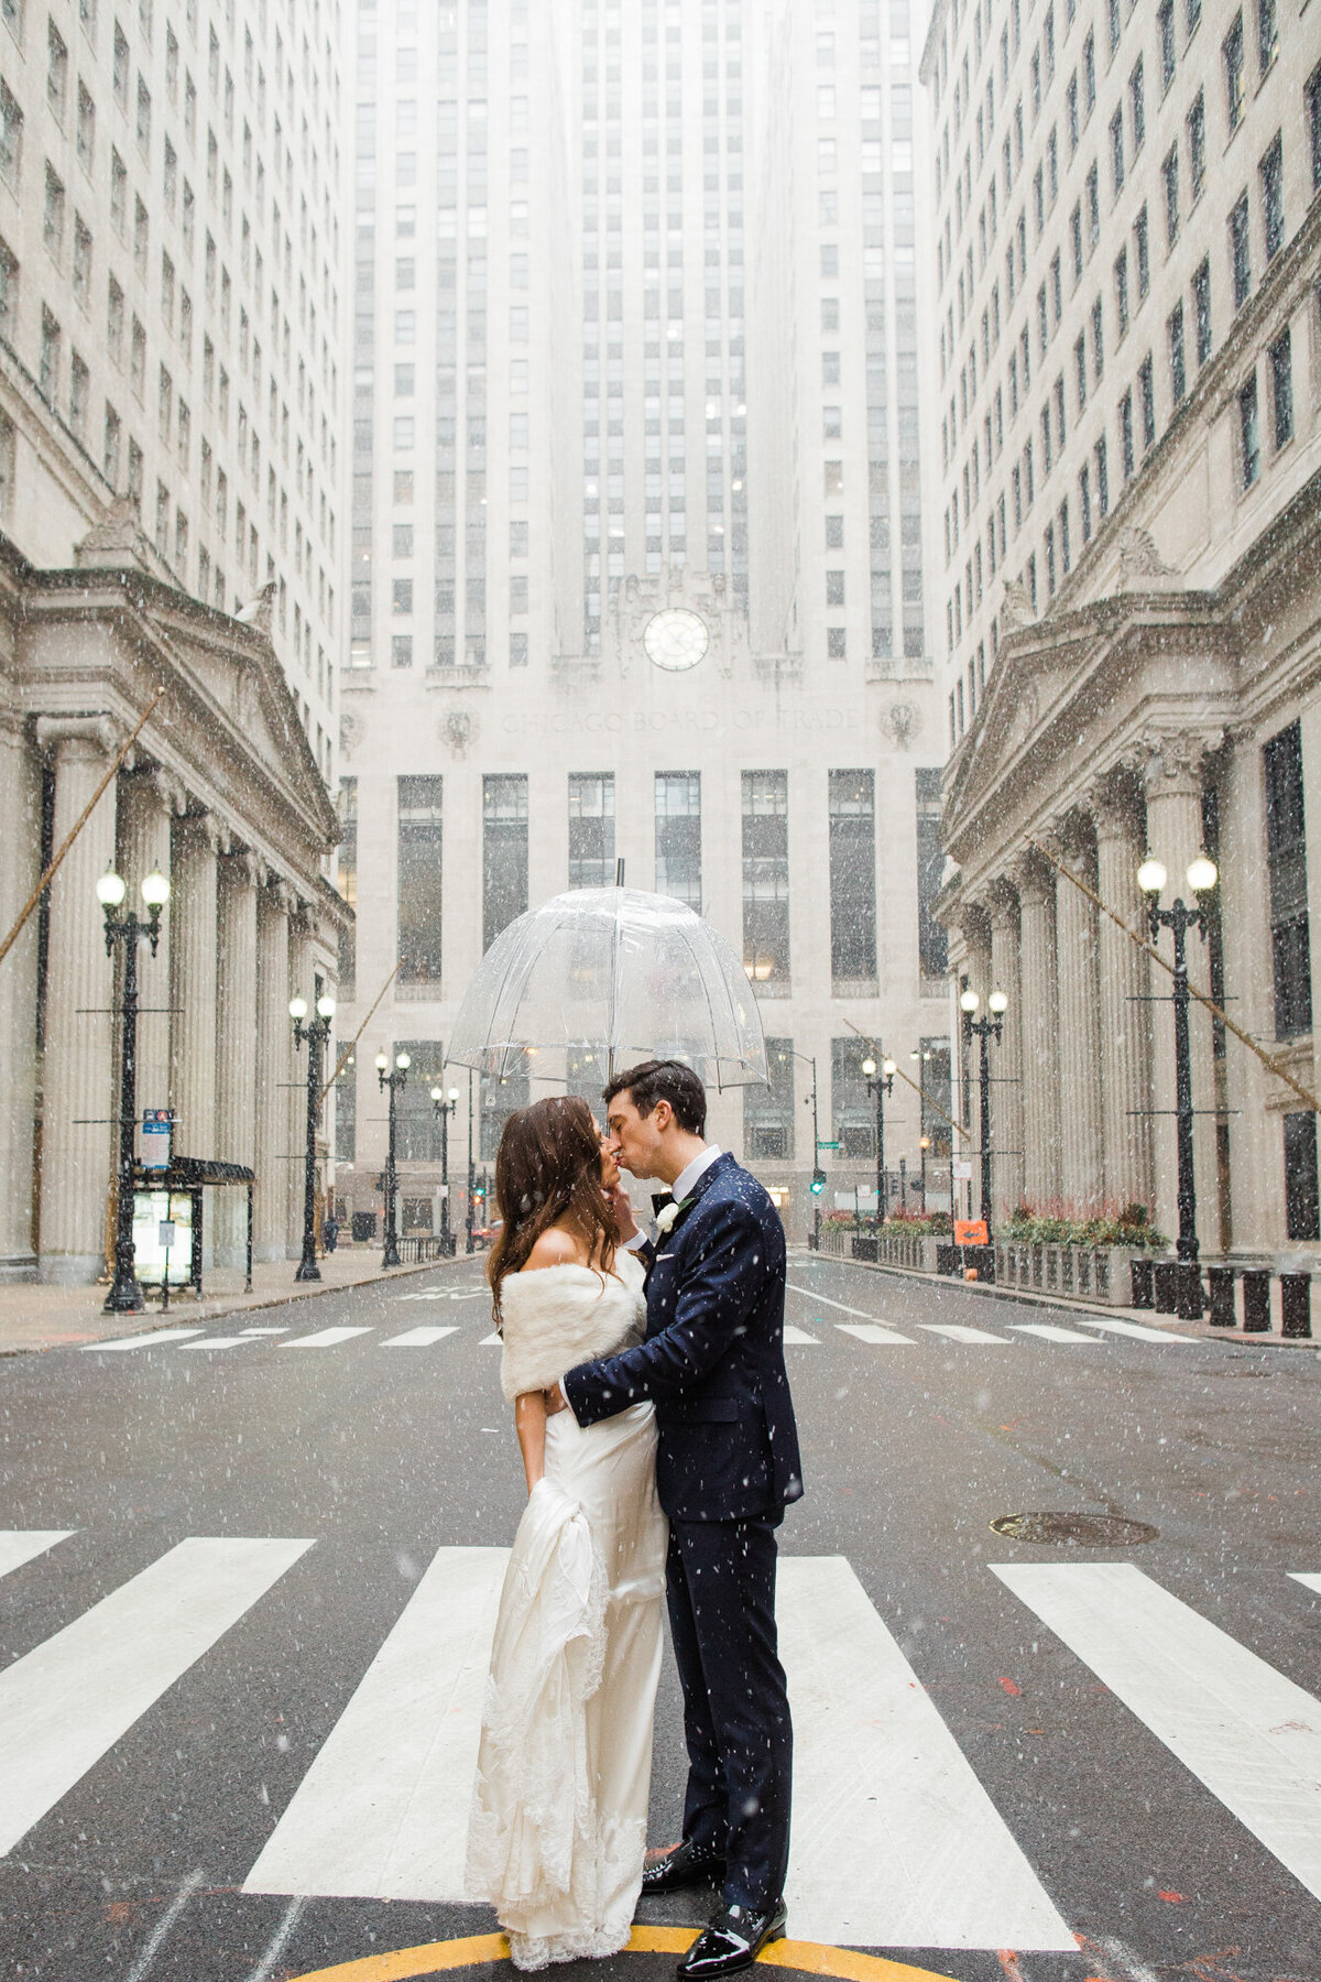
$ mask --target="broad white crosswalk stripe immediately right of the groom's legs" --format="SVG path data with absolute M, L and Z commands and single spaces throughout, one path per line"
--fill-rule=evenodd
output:
M 846 1558 L 780 1556 L 776 1611 L 794 1714 L 794 1932 L 1075 1954 Z

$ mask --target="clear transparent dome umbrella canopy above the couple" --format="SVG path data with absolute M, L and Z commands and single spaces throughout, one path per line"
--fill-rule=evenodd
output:
M 559 1082 L 687 1060 L 707 1086 L 766 1080 L 761 1013 L 723 936 L 671 896 L 576 888 L 495 937 L 463 997 L 450 1060 Z

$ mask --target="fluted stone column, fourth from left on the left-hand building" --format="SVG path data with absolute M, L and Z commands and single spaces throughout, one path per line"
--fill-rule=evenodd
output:
M 263 862 L 252 852 L 220 862 L 216 955 L 216 1156 L 255 1167 L 257 1154 L 257 888 Z M 248 1257 L 248 1193 L 216 1191 L 216 1263 Z

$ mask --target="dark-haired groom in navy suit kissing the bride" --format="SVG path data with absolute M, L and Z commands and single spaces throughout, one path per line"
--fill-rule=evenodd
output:
M 638 1348 L 570 1370 L 549 1395 L 580 1425 L 656 1401 L 656 1486 L 669 1516 L 669 1629 L 683 1687 L 683 1841 L 644 1893 L 723 1879 L 723 1905 L 679 1962 L 683 1982 L 747 1968 L 784 1934 L 792 1730 L 774 1629 L 774 1530 L 802 1494 L 784 1374 L 784 1229 L 761 1183 L 705 1142 L 707 1096 L 679 1060 L 606 1088 L 624 1169 L 673 1197 L 652 1249 L 628 1197 L 620 1237 L 648 1263 Z

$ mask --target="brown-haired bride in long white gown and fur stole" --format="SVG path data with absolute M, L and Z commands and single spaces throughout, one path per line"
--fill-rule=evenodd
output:
M 642 1887 L 667 1538 L 654 1407 L 584 1431 L 543 1399 L 572 1364 L 646 1334 L 618 1189 L 578 1096 L 509 1118 L 487 1274 L 529 1496 L 495 1625 L 467 1893 L 495 1907 L 519 1968 L 616 1954 Z

